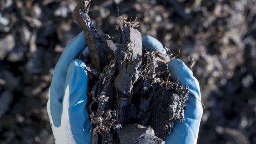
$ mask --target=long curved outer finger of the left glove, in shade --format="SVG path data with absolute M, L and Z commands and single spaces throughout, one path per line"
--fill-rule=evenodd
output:
M 84 32 L 79 33 L 63 50 L 58 60 L 51 82 L 50 90 L 50 114 L 55 127 L 60 126 L 61 108 L 64 96 L 64 84 L 67 76 L 67 68 L 72 60 L 86 47 Z

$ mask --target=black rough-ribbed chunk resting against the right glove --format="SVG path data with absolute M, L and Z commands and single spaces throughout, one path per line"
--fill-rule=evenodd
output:
M 174 121 L 184 121 L 185 104 L 189 88 L 178 87 L 178 80 L 167 87 L 159 87 L 152 99 L 151 119 L 149 124 L 155 135 L 162 140 L 171 133 Z

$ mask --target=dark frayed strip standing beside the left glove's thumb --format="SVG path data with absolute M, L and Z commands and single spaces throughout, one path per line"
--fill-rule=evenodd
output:
M 93 140 L 99 141 L 98 134 L 101 134 L 103 140 L 108 141 L 110 129 L 116 121 L 115 111 L 115 99 L 116 90 L 113 86 L 115 80 L 115 73 L 117 70 L 117 64 L 115 60 L 111 60 L 110 64 L 105 67 L 103 73 L 101 73 L 97 84 L 94 86 L 92 91 L 93 102 L 96 103 L 97 110 L 90 111 L 91 124 L 94 126 Z

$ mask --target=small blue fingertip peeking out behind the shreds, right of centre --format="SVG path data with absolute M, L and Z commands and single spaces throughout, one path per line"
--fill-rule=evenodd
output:
M 143 36 L 142 37 L 142 50 L 143 51 L 159 51 L 166 54 L 166 50 L 163 45 L 155 37 Z

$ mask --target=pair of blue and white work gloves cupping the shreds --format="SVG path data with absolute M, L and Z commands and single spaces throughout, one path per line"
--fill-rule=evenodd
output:
M 165 53 L 162 44 L 154 37 L 144 36 L 142 43 L 144 50 Z M 56 144 L 91 144 L 90 120 L 84 108 L 88 84 L 86 65 L 75 59 L 82 50 L 88 54 L 86 47 L 81 32 L 65 47 L 54 69 L 47 112 Z M 175 122 L 165 144 L 195 144 L 202 117 L 199 82 L 182 60 L 171 60 L 168 69 L 172 78 L 179 77 L 179 85 L 189 86 L 189 98 L 185 121 Z

